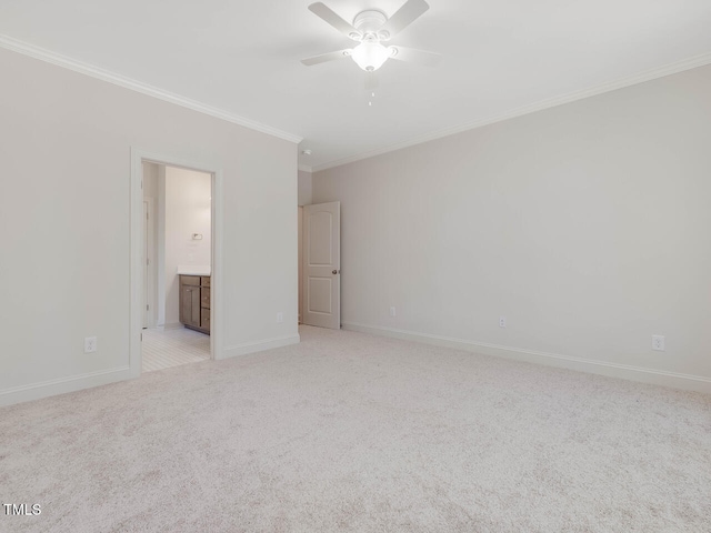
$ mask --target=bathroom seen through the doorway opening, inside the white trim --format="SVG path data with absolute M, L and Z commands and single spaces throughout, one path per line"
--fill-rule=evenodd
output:
M 211 358 L 212 175 L 153 162 L 142 165 L 144 209 L 157 197 L 159 212 L 143 218 L 141 372 L 151 372 Z M 161 260 L 151 265 L 151 258 Z

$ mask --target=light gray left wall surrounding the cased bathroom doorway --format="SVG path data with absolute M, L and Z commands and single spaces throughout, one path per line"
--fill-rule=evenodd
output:
M 124 376 L 131 148 L 223 170 L 221 355 L 298 341 L 297 144 L 7 50 L 0 71 L 0 402 Z

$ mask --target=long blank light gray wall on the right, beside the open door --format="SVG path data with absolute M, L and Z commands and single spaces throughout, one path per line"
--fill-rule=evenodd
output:
M 709 388 L 709 94 L 704 67 L 314 173 L 343 323 Z

